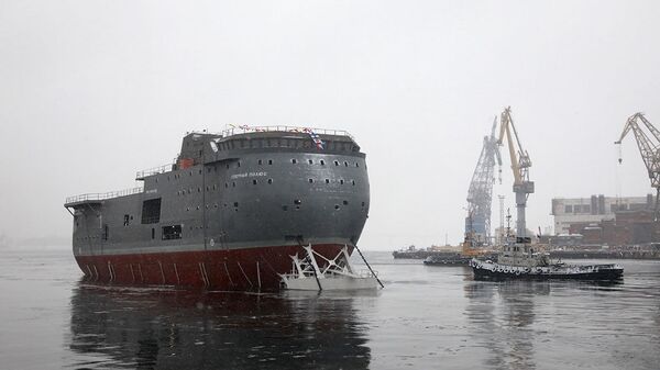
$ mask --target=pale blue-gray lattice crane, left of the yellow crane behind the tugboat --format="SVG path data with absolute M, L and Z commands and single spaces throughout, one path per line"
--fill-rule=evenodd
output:
M 465 218 L 465 235 L 477 244 L 491 242 L 491 204 L 493 203 L 493 182 L 495 182 L 495 162 L 502 167 L 499 145 L 495 137 L 497 116 L 493 122 L 491 135 L 484 136 L 476 168 L 468 190 L 468 217 Z M 499 168 L 502 183 L 502 168 Z

